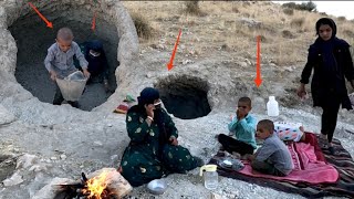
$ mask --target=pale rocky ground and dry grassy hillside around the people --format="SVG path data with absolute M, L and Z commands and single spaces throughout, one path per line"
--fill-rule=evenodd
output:
M 87 2 L 72 1 L 73 4 Z M 102 2 L 110 6 L 112 1 Z M 195 119 L 174 118 L 179 129 L 180 145 L 189 148 L 194 155 L 202 157 L 205 161 L 217 151 L 219 146 L 214 136 L 227 133 L 229 115 L 235 112 L 237 98 L 243 95 L 252 97 L 252 112 L 258 118 L 269 118 L 264 114 L 264 106 L 268 96 L 275 95 L 281 109 L 280 116 L 272 118 L 273 121 L 301 122 L 306 130 L 320 130 L 321 111 L 312 108 L 310 100 L 301 102 L 294 94 L 305 61 L 306 45 L 313 40 L 310 36 L 313 35 L 312 29 L 308 32 L 304 30 L 304 34 L 309 35 L 305 41 L 293 31 L 298 35 L 293 42 L 293 51 L 299 52 L 299 57 L 292 59 L 289 54 L 283 54 L 291 60 L 284 65 L 280 62 L 274 63 L 281 46 L 277 44 L 272 48 L 271 42 L 264 43 L 264 51 L 269 53 L 263 52 L 263 83 L 259 88 L 253 83 L 256 42 L 252 35 L 257 35 L 258 32 L 254 30 L 243 35 L 248 28 L 240 28 L 239 20 L 244 21 L 247 18 L 247 24 L 253 24 L 254 21 L 268 24 L 269 19 L 264 18 L 261 21 L 257 18 L 260 10 L 256 8 L 260 6 L 266 8 L 262 13 L 264 15 L 283 15 L 280 8 L 270 2 L 246 6 L 242 2 L 202 2 L 201 15 L 183 13 L 185 6 L 181 2 L 124 2 L 129 13 L 145 14 L 146 19 L 152 21 L 155 33 L 153 39 L 140 39 L 140 49 L 137 52 L 134 45 L 136 38 L 124 32 L 129 28 L 129 20 L 117 17 L 121 19 L 119 22 L 125 24 L 124 28 L 118 28 L 122 38 L 118 49 L 122 65 L 116 71 L 118 87 L 105 104 L 92 112 L 83 112 L 66 104 L 53 106 L 42 103 L 15 81 L 15 42 L 1 20 L 11 21 L 12 19 L 3 13 L 13 13 L 11 9 L 2 7 L 20 7 L 21 3 L 24 4 L 25 1 L 0 2 L 0 180 L 4 180 L 0 184 L 0 198 L 32 198 L 55 177 L 79 179 L 82 171 L 92 172 L 103 167 L 116 168 L 129 138 L 125 130 L 125 116 L 112 111 L 126 94 L 136 96 L 145 86 L 155 85 L 165 90 L 169 86 L 177 90 L 176 86 L 184 82 L 195 90 L 207 92 L 211 107 L 207 116 Z M 60 6 L 67 2 L 53 3 Z M 107 14 L 112 14 L 114 10 L 123 12 L 118 4 L 113 6 L 117 9 L 106 8 Z M 283 21 L 284 29 L 290 29 L 287 27 L 291 19 Z M 275 22 L 277 25 L 281 23 Z M 312 23 L 314 22 L 311 22 L 311 25 Z M 183 35 L 175 67 L 168 72 L 166 63 L 180 28 Z M 305 28 L 306 25 L 302 27 Z M 275 41 L 266 30 L 261 32 L 268 41 Z M 127 42 L 131 42 L 129 45 Z M 296 49 L 299 43 L 302 44 L 301 49 Z M 270 53 L 272 49 L 277 52 Z M 133 53 L 129 54 L 131 52 Z M 354 135 L 345 129 L 353 132 L 353 112 L 341 111 L 335 132 L 335 137 L 352 156 Z M 223 177 L 219 179 L 219 188 L 209 191 L 204 188 L 198 172 L 199 170 L 195 169 L 187 175 L 168 176 L 168 189 L 162 196 L 153 196 L 142 186 L 135 188 L 127 198 L 197 199 L 211 195 L 222 198 L 302 198 L 299 195 Z

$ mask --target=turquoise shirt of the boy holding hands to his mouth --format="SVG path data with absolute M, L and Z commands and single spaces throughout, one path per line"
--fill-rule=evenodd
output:
M 256 144 L 256 125 L 257 119 L 248 114 L 244 118 L 238 119 L 236 116 L 228 125 L 230 132 L 235 133 L 237 140 L 247 143 L 253 148 L 257 148 Z

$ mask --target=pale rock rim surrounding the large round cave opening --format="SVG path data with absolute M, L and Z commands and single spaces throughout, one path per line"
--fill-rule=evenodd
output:
M 39 102 L 37 97 L 33 97 L 30 92 L 25 91 L 20 84 L 18 84 L 14 78 L 18 49 L 15 41 L 8 28 L 19 18 L 37 14 L 29 7 L 28 2 L 30 1 L 4 0 L 0 2 L 0 103 L 13 115 L 33 123 L 38 123 L 38 121 L 61 121 L 58 118 L 58 116 L 55 116 L 55 114 L 51 114 L 53 112 L 58 112 L 59 109 L 63 109 L 59 112 L 82 115 L 84 114 L 83 112 L 73 109 L 69 106 L 52 106 L 46 103 L 43 104 Z M 96 2 L 95 0 L 53 0 L 38 1 L 33 2 L 33 4 L 42 12 L 43 15 L 48 18 L 49 21 L 55 21 L 63 17 L 61 14 L 51 15 L 51 12 L 59 10 L 59 12 L 62 11 L 62 14 L 66 14 L 65 10 L 75 10 L 80 8 L 87 10 L 90 17 L 92 17 L 91 13 L 93 13 L 93 11 L 96 11 L 97 15 L 100 15 L 100 19 L 97 20 L 104 20 L 111 24 L 114 24 L 118 34 L 116 36 L 119 38 L 117 60 L 121 62 L 121 65 L 116 70 L 117 83 L 119 84 L 123 81 L 129 82 L 128 78 L 133 76 L 126 74 L 126 71 L 134 71 L 134 67 L 139 67 L 139 64 L 135 59 L 138 53 L 138 39 L 128 12 L 119 1 L 102 0 Z M 82 20 L 83 23 L 91 23 L 92 18 L 88 18 L 87 13 L 75 13 L 75 20 Z M 37 25 L 45 25 L 40 24 L 42 21 L 39 18 L 37 22 L 39 22 Z M 122 84 L 121 86 L 127 85 Z M 124 90 L 125 88 L 123 87 L 123 91 Z M 96 111 L 110 109 L 111 112 L 123 98 L 124 94 L 118 91 L 119 87 L 117 87 L 115 94 L 108 98 L 107 103 L 103 104 L 101 107 L 97 107 Z M 31 119 L 29 115 L 35 119 Z M 63 117 L 65 117 L 65 114 Z

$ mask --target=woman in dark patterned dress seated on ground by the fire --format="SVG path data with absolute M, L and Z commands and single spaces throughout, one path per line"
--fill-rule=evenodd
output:
M 178 145 L 177 128 L 160 103 L 158 91 L 146 87 L 140 92 L 138 105 L 131 107 L 126 116 L 131 143 L 119 171 L 134 187 L 204 165 L 200 158 Z

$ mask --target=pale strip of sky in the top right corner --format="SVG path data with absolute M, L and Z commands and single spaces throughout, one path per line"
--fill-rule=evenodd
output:
M 284 2 L 309 2 L 309 1 L 273 1 L 277 3 Z M 354 1 L 313 1 L 319 12 L 325 12 L 335 17 L 345 17 L 347 20 L 354 19 Z

